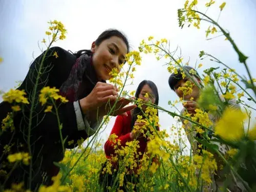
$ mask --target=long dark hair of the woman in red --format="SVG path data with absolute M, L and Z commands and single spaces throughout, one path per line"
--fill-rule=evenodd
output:
M 139 97 L 139 94 L 142 90 L 142 88 L 145 86 L 145 85 L 148 85 L 150 87 L 150 89 L 153 91 L 155 97 L 156 97 L 156 100 L 155 100 L 155 103 L 156 105 L 158 105 L 158 101 L 159 101 L 159 95 L 158 95 L 158 90 L 157 90 L 157 86 L 156 84 L 151 81 L 151 80 L 143 80 L 140 82 L 137 90 L 136 90 L 136 93 L 135 93 L 135 98 L 138 99 Z M 135 108 L 134 111 L 133 111 L 133 116 L 132 116 L 132 122 L 131 122 L 131 127 L 132 127 L 132 130 L 133 130 L 133 126 L 134 126 L 134 123 L 135 121 L 137 120 L 137 115 L 141 115 L 142 112 L 141 112 L 141 109 L 140 108 Z M 157 111 L 157 116 L 158 116 L 158 111 Z

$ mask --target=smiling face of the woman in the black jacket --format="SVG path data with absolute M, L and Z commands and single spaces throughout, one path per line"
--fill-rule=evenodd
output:
M 99 46 L 93 42 L 91 51 L 94 53 L 93 65 L 98 78 L 108 80 L 111 78 L 109 73 L 113 68 L 117 68 L 120 72 L 120 65 L 124 63 L 127 46 L 120 37 L 112 36 L 103 40 Z

